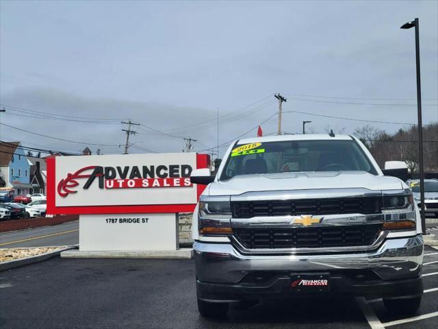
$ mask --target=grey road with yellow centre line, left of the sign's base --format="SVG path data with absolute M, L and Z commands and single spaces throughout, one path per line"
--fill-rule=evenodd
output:
M 78 243 L 79 221 L 0 234 L 1 248 L 77 245 Z

